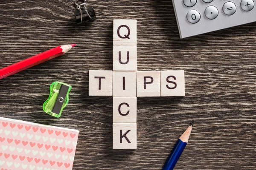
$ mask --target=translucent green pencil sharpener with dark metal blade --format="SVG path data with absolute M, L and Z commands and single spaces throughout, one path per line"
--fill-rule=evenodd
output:
M 71 88 L 71 85 L 66 83 L 53 82 L 50 86 L 50 95 L 43 105 L 45 113 L 54 117 L 60 117 L 62 110 L 68 104 L 68 94 Z

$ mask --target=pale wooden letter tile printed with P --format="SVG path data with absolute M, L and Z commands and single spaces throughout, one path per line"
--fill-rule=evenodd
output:
M 160 95 L 160 71 L 137 71 L 137 96 Z

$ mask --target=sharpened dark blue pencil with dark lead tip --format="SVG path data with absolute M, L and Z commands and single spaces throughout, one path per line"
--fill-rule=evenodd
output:
M 186 144 L 189 141 L 189 136 L 192 130 L 193 123 L 187 128 L 187 130 L 180 136 L 179 140 L 175 144 L 175 147 L 172 150 L 172 153 L 168 157 L 166 163 L 163 166 L 163 170 L 173 170 L 175 164 L 177 163 L 180 155 L 186 147 Z

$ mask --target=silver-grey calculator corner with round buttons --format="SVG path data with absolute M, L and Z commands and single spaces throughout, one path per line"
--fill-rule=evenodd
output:
M 254 0 L 172 0 L 180 38 L 256 21 Z

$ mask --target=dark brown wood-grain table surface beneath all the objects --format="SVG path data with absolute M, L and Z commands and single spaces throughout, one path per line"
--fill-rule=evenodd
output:
M 0 68 L 58 45 L 62 57 L 0 80 L 0 116 L 80 130 L 73 170 L 160 170 L 194 120 L 177 170 L 256 170 L 256 23 L 180 39 L 171 0 L 0 2 Z M 248 16 L 249 17 L 249 16 Z M 185 70 L 185 97 L 137 99 L 137 149 L 112 149 L 112 97 L 88 96 L 88 70 L 112 70 L 113 19 L 137 19 L 138 70 Z M 54 81 L 73 86 L 61 118 L 42 105 Z

